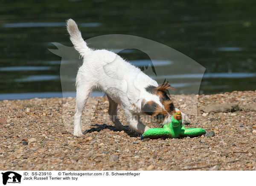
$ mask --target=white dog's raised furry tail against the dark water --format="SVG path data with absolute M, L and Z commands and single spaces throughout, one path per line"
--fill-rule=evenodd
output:
M 67 31 L 70 34 L 71 42 L 81 56 L 84 57 L 91 52 L 91 49 L 86 45 L 86 42 L 82 38 L 81 32 L 73 19 L 67 20 Z

